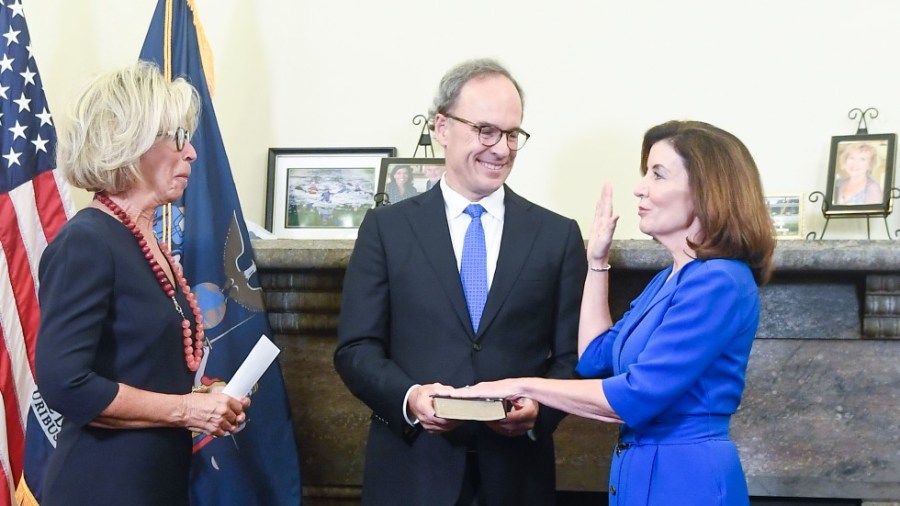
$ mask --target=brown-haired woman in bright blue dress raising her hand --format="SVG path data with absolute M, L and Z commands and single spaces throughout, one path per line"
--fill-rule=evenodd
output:
M 576 372 L 514 378 L 459 397 L 531 398 L 621 424 L 611 505 L 747 505 L 729 421 L 759 322 L 757 286 L 775 248 L 759 172 L 734 135 L 695 121 L 651 128 L 641 153 L 640 229 L 672 255 L 621 320 L 608 303 L 618 216 L 605 185 L 588 240 Z

